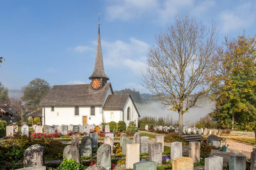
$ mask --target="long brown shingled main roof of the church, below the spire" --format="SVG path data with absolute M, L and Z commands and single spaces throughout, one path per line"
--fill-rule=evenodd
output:
M 102 89 L 92 89 L 90 84 L 54 85 L 42 99 L 40 106 L 102 106 L 111 83 Z

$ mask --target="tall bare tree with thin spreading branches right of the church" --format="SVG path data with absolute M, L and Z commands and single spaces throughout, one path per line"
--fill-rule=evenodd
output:
M 205 31 L 204 25 L 188 14 L 177 16 L 175 24 L 156 37 L 156 45 L 148 52 L 144 86 L 179 113 L 179 134 L 183 114 L 209 90 L 215 52 L 215 25 Z

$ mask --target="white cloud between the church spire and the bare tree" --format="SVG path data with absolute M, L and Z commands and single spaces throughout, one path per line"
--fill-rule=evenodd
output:
M 124 41 L 108 42 L 102 40 L 104 64 L 111 67 L 127 67 L 134 74 L 141 74 L 145 69 L 146 55 L 149 45 L 144 41 L 130 38 Z

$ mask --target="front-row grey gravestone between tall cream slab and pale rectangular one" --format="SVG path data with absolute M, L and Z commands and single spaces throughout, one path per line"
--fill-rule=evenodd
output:
M 162 143 L 149 144 L 149 160 L 156 162 L 157 166 L 162 165 Z

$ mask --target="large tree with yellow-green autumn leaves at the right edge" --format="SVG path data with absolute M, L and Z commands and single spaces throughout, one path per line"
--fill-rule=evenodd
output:
M 215 83 L 212 99 L 213 120 L 223 128 L 255 130 L 256 136 L 256 40 L 239 36 L 226 40 L 218 52 L 220 81 Z

